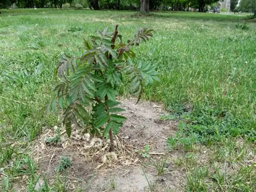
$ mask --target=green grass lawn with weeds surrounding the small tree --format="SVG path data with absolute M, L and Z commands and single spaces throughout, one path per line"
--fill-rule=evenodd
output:
M 168 154 L 177 151 L 183 154 L 170 161 L 175 170 L 184 170 L 180 190 L 253 191 L 256 187 L 255 20 L 187 12 L 147 16 L 129 11 L 1 12 L 0 191 L 17 191 L 18 181 L 26 184 L 22 191 L 33 191 L 38 178 L 50 180 L 37 172 L 40 162 L 34 160 L 31 145 L 51 127 L 61 125 L 60 111 L 38 116 L 53 95 L 59 56 L 80 55 L 83 37 L 115 25 L 124 37 L 140 27 L 154 29 L 153 38 L 135 48 L 137 60 L 154 63 L 161 79 L 146 87 L 142 100 L 163 104 L 167 113 L 159 118 L 179 122 L 176 133 L 165 136 L 165 158 L 171 159 Z M 119 92 L 122 98 L 130 97 L 125 82 Z M 204 163 L 201 152 L 207 159 Z M 65 191 L 65 176 L 54 179 L 44 191 Z M 113 182 L 112 188 L 118 188 Z M 152 182 L 146 191 L 172 191 L 168 186 L 157 190 Z M 74 183 L 74 191 L 84 188 Z

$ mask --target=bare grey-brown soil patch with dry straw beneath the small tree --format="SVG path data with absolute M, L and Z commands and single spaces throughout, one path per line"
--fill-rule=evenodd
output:
M 158 103 L 140 101 L 136 105 L 136 99 L 126 99 L 121 107 L 126 110 L 122 115 L 127 120 L 116 137 L 116 152 L 109 152 L 105 139 L 92 138 L 75 127 L 70 139 L 62 127 L 61 141 L 49 145 L 45 140 L 54 137 L 55 127 L 34 143 L 38 174 L 46 175 L 49 184 L 53 184 L 60 157 L 69 157 L 72 166 L 67 169 L 68 191 L 182 191 L 184 171 L 174 169 L 172 160 L 179 152 L 168 153 L 167 158 L 166 151 L 166 139 L 175 134 L 177 122 L 160 120 L 166 112 Z M 141 156 L 146 144 L 150 146 L 152 160 Z M 163 159 L 164 173 L 159 175 L 154 162 Z

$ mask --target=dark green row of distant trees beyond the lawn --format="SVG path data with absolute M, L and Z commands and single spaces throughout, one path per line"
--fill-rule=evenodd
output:
M 83 8 L 140 10 L 142 12 L 155 10 L 189 11 L 189 8 L 204 12 L 207 5 L 219 0 L 0 0 L 0 8 L 62 8 L 63 4 L 80 4 Z M 236 8 L 238 0 L 231 0 L 231 10 Z M 241 0 L 240 9 L 255 12 L 255 0 Z

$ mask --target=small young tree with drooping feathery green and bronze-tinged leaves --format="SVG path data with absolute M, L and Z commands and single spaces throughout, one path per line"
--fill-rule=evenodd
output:
M 139 29 L 132 39 L 123 42 L 118 34 L 106 28 L 90 40 L 84 39 L 84 53 L 79 57 L 63 55 L 56 68 L 57 83 L 55 97 L 45 106 L 45 110 L 56 109 L 63 112 L 63 124 L 68 136 L 71 125 L 89 127 L 90 132 L 110 138 L 111 151 L 114 151 L 113 134 L 117 134 L 125 117 L 118 114 L 124 111 L 118 107 L 116 96 L 123 75 L 130 80 L 130 92 L 140 99 L 143 86 L 159 80 L 155 66 L 148 62 L 134 62 L 133 46 L 153 36 L 153 30 Z M 137 101 L 137 102 L 138 102 Z

